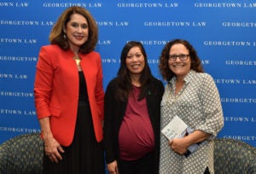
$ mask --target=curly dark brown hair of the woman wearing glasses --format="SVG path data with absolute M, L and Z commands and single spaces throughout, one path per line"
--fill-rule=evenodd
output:
M 201 60 L 200 60 L 199 56 L 197 55 L 194 47 L 191 44 L 189 44 L 189 42 L 187 40 L 174 39 L 165 45 L 165 47 L 164 47 L 164 49 L 162 49 L 162 52 L 160 55 L 159 69 L 160 69 L 160 73 L 161 73 L 162 77 L 165 80 L 169 81 L 175 76 L 175 73 L 173 73 L 168 66 L 170 49 L 172 48 L 172 46 L 174 44 L 183 44 L 187 49 L 189 49 L 189 57 L 191 60 L 191 66 L 190 66 L 191 70 L 194 70 L 195 72 L 198 72 L 198 73 L 204 72 L 203 67 L 201 65 Z

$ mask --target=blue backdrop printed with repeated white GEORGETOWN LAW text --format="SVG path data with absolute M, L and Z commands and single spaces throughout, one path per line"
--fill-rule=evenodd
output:
M 137 40 L 154 76 L 160 51 L 173 38 L 195 46 L 215 79 L 224 109 L 219 137 L 256 146 L 256 1 L 1 1 L 0 143 L 40 131 L 33 102 L 38 51 L 61 12 L 73 5 L 90 10 L 99 26 L 104 88 L 119 68 L 125 43 Z

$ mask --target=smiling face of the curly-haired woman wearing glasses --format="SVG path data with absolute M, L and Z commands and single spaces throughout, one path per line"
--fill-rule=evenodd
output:
M 173 44 L 169 55 L 189 55 L 189 49 L 183 44 Z M 182 79 L 189 73 L 191 66 L 191 59 L 188 56 L 187 60 L 181 61 L 179 57 L 176 60 L 168 60 L 169 68 L 175 73 L 177 79 Z

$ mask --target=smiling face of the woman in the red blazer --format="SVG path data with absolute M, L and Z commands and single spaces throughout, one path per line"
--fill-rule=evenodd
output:
M 89 35 L 88 22 L 81 14 L 72 14 L 64 29 L 67 35 L 67 42 L 72 50 L 79 50 Z

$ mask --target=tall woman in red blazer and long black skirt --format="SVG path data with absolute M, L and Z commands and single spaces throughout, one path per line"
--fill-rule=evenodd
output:
M 83 8 L 66 9 L 39 52 L 35 105 L 44 173 L 105 173 L 102 61 L 97 26 Z

